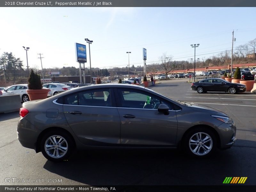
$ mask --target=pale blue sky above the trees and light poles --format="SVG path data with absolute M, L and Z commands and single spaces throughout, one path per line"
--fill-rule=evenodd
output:
M 12 52 L 27 66 L 41 68 L 37 53 L 43 53 L 43 67 L 77 67 L 75 43 L 93 40 L 92 67 L 143 66 L 142 48 L 147 49 L 147 64 L 166 52 L 172 60 L 207 59 L 232 46 L 256 38 L 255 7 L 49 7 L 0 8 L 0 55 Z M 204 54 L 204 55 L 202 55 Z

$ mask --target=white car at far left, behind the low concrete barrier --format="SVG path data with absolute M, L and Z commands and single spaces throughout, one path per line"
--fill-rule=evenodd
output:
M 17 84 L 12 85 L 10 87 L 6 87 L 2 91 L 2 95 L 20 95 L 20 100 L 23 102 L 29 101 L 28 94 L 26 92 L 26 89 L 28 89 L 28 84 Z

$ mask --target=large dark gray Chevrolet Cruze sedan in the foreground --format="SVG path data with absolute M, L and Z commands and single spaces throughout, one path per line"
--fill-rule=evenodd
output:
M 28 101 L 17 126 L 21 145 L 51 161 L 75 148 L 177 148 L 203 157 L 230 148 L 236 126 L 224 112 L 174 101 L 142 86 L 98 84 Z

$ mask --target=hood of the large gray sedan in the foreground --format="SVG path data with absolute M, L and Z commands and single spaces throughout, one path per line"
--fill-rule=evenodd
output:
M 187 102 L 187 101 L 178 101 L 178 102 L 180 102 L 181 105 L 185 105 L 186 107 L 188 107 L 192 110 L 198 111 L 198 112 L 209 113 L 211 115 L 229 117 L 226 113 L 224 113 L 218 109 L 212 108 L 212 107 L 198 105 L 196 103 L 191 103 L 191 102 Z

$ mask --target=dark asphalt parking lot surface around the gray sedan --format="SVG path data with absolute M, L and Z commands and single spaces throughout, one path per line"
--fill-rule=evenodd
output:
M 223 185 L 225 177 L 247 177 L 243 185 L 256 185 L 256 94 L 198 94 L 186 81 L 161 81 L 149 88 L 173 100 L 195 102 L 227 113 L 237 126 L 237 141 L 231 149 L 217 151 L 206 159 L 169 149 L 88 150 L 77 151 L 68 161 L 56 164 L 20 145 L 16 134 L 18 112 L 0 114 L 0 185 Z M 6 178 L 13 177 L 41 180 L 6 182 Z

